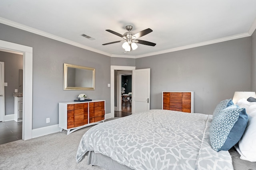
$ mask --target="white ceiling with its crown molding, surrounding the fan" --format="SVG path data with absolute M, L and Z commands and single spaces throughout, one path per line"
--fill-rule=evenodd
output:
M 252 35 L 256 0 L 1 0 L 0 22 L 111 57 L 139 58 Z M 156 46 L 124 53 L 126 25 Z M 81 36 L 89 35 L 95 40 Z

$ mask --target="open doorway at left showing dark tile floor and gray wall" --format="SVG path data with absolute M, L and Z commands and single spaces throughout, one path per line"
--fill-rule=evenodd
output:
M 23 53 L 0 49 L 0 61 L 4 65 L 4 83 L 0 85 L 3 89 L 0 144 L 3 144 L 22 139 Z

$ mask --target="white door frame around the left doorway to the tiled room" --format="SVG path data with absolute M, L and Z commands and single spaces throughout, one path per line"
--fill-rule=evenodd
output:
M 33 48 L 0 40 L 0 49 L 23 53 L 23 125 L 22 139 L 32 138 Z M 4 118 L 3 118 L 4 119 Z

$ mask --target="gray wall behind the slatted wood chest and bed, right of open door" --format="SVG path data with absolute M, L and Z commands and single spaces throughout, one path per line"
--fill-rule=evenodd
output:
M 250 91 L 251 38 L 136 59 L 151 68 L 150 109 L 162 108 L 162 91 L 194 91 L 194 112 L 212 114 L 235 91 Z

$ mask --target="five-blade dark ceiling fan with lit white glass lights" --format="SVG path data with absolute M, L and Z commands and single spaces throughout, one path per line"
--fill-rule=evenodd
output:
M 143 44 L 143 45 L 150 45 L 150 46 L 156 45 L 156 43 L 151 43 L 149 41 L 137 39 L 139 37 L 147 35 L 148 33 L 151 33 L 153 31 L 152 29 L 150 29 L 150 28 L 144 29 L 143 31 L 140 31 L 136 34 L 134 34 L 133 32 L 130 32 L 132 30 L 132 25 L 127 25 L 126 29 L 128 30 L 128 32 L 124 33 L 124 35 L 117 33 L 115 31 L 112 31 L 110 29 L 106 29 L 106 31 L 113 33 L 119 37 L 122 37 L 124 39 L 124 40 L 122 40 L 124 42 L 122 47 L 124 48 L 125 51 L 132 51 L 132 50 L 137 49 L 138 45 L 136 43 Z M 119 43 L 119 42 L 121 42 L 121 41 L 114 41 L 114 42 L 106 43 L 106 44 L 102 44 L 102 45 L 114 44 L 114 43 Z

